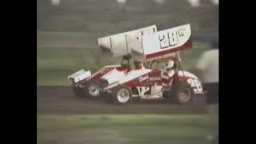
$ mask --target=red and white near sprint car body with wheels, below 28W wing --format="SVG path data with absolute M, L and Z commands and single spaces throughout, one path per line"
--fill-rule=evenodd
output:
M 178 65 L 177 60 L 174 76 L 168 80 L 163 79 L 163 70 L 159 70 L 158 66 L 168 60 L 169 58 L 154 60 L 150 62 L 150 67 L 142 70 L 130 70 L 127 74 L 118 74 L 122 72 L 113 70 L 101 78 L 102 87 L 98 90 L 105 92 L 113 102 L 121 104 L 130 102 L 134 97 L 165 98 L 185 104 L 191 102 L 194 96 L 202 94 L 202 83 L 198 77 L 190 72 L 180 70 L 181 66 Z

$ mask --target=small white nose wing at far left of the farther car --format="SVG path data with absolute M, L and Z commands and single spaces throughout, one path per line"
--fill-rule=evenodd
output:
M 71 74 L 68 76 L 68 79 L 74 83 L 80 82 L 86 78 L 89 78 L 91 76 L 90 70 L 79 70 L 78 72 Z

